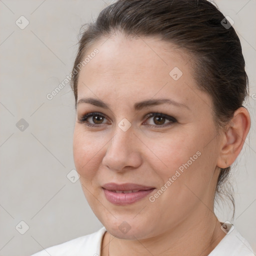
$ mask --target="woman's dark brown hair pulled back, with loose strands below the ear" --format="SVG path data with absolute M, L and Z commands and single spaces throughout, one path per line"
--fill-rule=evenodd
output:
M 194 78 L 212 98 L 218 127 L 242 106 L 248 77 L 241 44 L 228 20 L 207 0 L 118 0 L 104 8 L 79 40 L 71 79 L 75 102 L 79 76 L 74 72 L 76 66 L 93 43 L 115 31 L 131 37 L 157 36 L 190 53 Z M 230 166 L 221 169 L 215 195 L 229 197 L 234 209 L 232 192 L 222 187 L 229 172 Z

